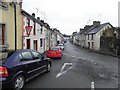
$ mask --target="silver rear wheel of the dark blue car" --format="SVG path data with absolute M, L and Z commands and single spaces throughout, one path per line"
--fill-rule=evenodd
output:
M 13 82 L 13 88 L 15 90 L 21 90 L 25 84 L 25 78 L 23 75 L 18 75 L 14 82 Z

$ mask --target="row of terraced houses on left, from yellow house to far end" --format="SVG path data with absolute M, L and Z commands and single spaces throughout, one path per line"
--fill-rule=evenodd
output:
M 64 40 L 56 28 L 30 15 L 22 9 L 22 2 L 16 3 L 15 33 L 14 2 L 0 1 L 0 48 L 1 49 L 34 49 L 41 53 Z M 16 42 L 15 42 L 16 39 Z

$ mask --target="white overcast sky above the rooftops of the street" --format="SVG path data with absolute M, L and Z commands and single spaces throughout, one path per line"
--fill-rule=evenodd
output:
M 23 9 L 35 13 L 51 28 L 71 35 L 93 21 L 118 26 L 119 0 L 23 0 Z

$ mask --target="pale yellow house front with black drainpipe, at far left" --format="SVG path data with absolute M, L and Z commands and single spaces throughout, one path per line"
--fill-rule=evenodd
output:
M 15 49 L 14 5 L 8 0 L 0 1 L 0 47 Z M 21 3 L 16 5 L 17 49 L 22 49 Z

